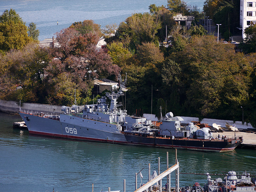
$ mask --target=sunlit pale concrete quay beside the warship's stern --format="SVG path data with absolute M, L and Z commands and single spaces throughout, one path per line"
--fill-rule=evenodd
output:
M 242 136 L 244 141 L 241 145 L 239 145 L 237 148 L 243 148 L 243 149 L 256 149 L 256 134 L 255 133 L 246 133 L 246 132 L 240 132 L 236 131 L 235 133 L 233 131 L 225 131 L 225 132 L 216 132 L 213 133 L 213 135 L 219 134 L 220 137 L 222 135 L 226 135 L 227 137 L 234 137 L 234 134 L 236 134 L 236 137 Z

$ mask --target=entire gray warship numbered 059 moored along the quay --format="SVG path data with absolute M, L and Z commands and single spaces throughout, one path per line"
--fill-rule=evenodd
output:
M 171 112 L 160 122 L 144 117 L 129 116 L 119 108 L 126 79 L 119 75 L 120 87 L 106 93 L 93 105 L 62 106 L 62 114 L 47 115 L 38 112 L 20 112 L 30 134 L 81 139 L 113 144 L 145 145 L 161 148 L 180 148 L 200 151 L 233 151 L 242 143 L 242 137 L 214 138 L 207 127 L 199 128 L 192 122 L 181 125 L 181 117 Z M 110 100 L 110 105 L 107 104 Z

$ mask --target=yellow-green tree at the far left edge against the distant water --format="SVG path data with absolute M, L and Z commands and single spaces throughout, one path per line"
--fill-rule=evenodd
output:
M 28 37 L 27 27 L 15 10 L 5 10 L 0 16 L 0 50 L 22 49 L 32 41 Z

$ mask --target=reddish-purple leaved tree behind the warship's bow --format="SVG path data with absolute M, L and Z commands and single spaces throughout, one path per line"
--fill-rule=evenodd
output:
M 73 27 L 57 33 L 56 41 L 59 46 L 52 48 L 54 59 L 46 69 L 49 84 L 54 87 L 58 82 L 55 81 L 56 77 L 65 73 L 65 76 L 71 78 L 76 87 L 79 87 L 81 93 L 88 96 L 94 79 L 117 76 L 118 66 L 112 65 L 110 56 L 106 52 L 96 49 L 97 37 L 94 32 L 81 34 Z M 59 77 L 63 78 L 63 76 Z

